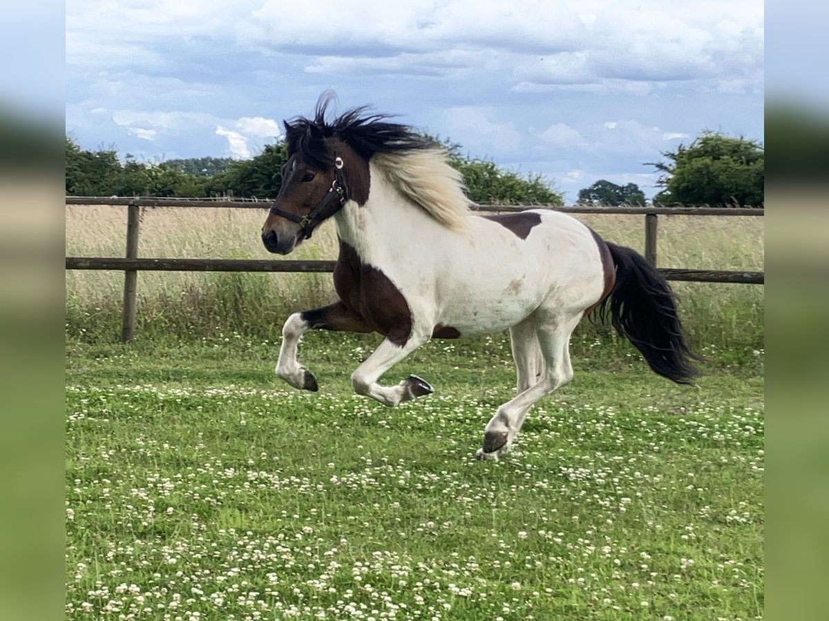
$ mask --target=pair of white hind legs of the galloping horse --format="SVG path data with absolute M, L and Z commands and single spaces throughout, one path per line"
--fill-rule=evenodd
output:
M 516 397 L 498 407 L 495 416 L 487 423 L 482 448 L 476 454 L 479 460 L 497 459 L 498 455 L 508 450 L 521 431 L 530 408 L 573 378 L 570 335 L 580 319 L 581 313 L 574 317 L 560 317 L 540 323 L 535 326 L 532 334 L 523 324 L 510 331 L 516 368 L 519 369 L 519 392 Z M 516 344 L 523 346 L 516 347 Z M 538 361 L 539 352 L 541 363 Z M 536 373 L 540 373 L 540 377 L 536 378 Z M 521 390 L 522 387 L 526 388 Z

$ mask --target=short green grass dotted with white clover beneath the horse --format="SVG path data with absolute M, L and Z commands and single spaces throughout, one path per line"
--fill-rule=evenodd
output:
M 309 334 L 311 394 L 250 335 L 67 333 L 67 618 L 759 619 L 762 351 L 687 388 L 602 335 L 492 463 L 503 335 L 389 409 L 348 380 L 375 336 Z

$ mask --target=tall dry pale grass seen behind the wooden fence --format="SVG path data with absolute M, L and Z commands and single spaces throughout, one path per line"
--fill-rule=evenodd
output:
M 269 258 L 259 241 L 264 209 L 144 209 L 138 253 L 153 258 Z M 579 216 L 602 237 L 643 252 L 640 215 Z M 66 207 L 66 254 L 123 257 L 126 208 Z M 337 258 L 337 236 L 324 224 L 291 259 Z M 662 216 L 660 267 L 762 270 L 764 223 L 756 217 Z M 85 339 L 114 339 L 123 296 L 120 272 L 66 272 L 67 330 Z M 762 286 L 673 283 L 698 349 L 709 353 L 763 349 Z M 140 272 L 138 333 L 188 338 L 227 331 L 274 339 L 288 312 L 334 299 L 330 274 Z M 587 322 L 584 322 L 587 324 Z M 588 344 L 606 330 L 585 326 Z

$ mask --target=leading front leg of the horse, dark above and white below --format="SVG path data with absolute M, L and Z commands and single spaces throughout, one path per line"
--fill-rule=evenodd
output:
M 297 360 L 299 340 L 308 330 L 336 330 L 345 332 L 371 332 L 360 315 L 349 310 L 342 301 L 313 310 L 293 313 L 282 327 L 282 347 L 276 374 L 293 388 L 317 392 L 319 387 L 313 373 Z

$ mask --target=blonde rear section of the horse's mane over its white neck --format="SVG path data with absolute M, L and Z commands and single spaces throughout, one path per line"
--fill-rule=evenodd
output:
M 461 173 L 440 148 L 376 153 L 371 157 L 402 195 L 449 229 L 468 227 L 469 199 Z

